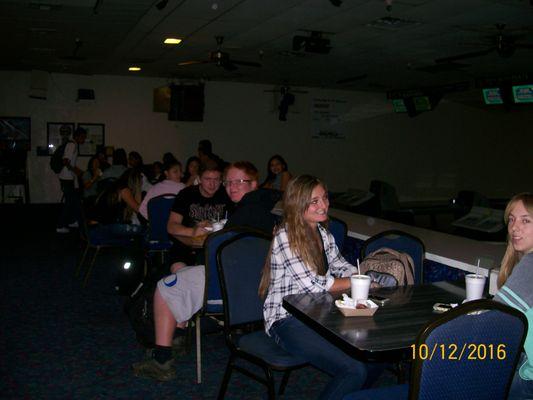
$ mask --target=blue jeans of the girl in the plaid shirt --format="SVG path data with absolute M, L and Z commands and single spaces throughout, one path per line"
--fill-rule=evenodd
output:
M 349 356 L 294 317 L 277 321 L 270 334 L 278 345 L 332 377 L 321 399 L 342 399 L 361 389 L 367 378 L 366 365 Z

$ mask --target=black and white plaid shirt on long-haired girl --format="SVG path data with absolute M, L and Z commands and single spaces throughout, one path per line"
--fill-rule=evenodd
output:
M 270 334 L 270 327 L 274 322 L 290 315 L 282 306 L 283 297 L 297 293 L 324 292 L 333 285 L 335 278 L 357 273 L 357 268 L 340 254 L 331 233 L 320 224 L 318 231 L 328 260 L 328 271 L 325 275 L 317 275 L 311 271 L 303 260 L 291 251 L 285 228 L 281 228 L 274 236 L 270 256 L 270 286 L 263 305 L 267 334 Z

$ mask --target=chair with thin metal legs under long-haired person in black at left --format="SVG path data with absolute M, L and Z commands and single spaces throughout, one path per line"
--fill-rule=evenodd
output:
M 85 250 L 83 251 L 83 255 L 80 259 L 80 262 L 78 264 L 78 267 L 76 268 L 76 272 L 75 272 L 76 276 L 79 276 L 81 274 L 81 271 L 83 269 L 83 264 L 85 263 L 85 259 L 89 253 L 89 250 L 90 249 L 94 250 L 94 254 L 91 257 L 91 261 L 89 263 L 89 266 L 87 267 L 87 272 L 85 273 L 85 277 L 83 279 L 83 286 L 87 286 L 94 264 L 96 262 L 96 257 L 98 256 L 98 254 L 100 253 L 102 249 L 123 248 L 123 247 L 133 246 L 136 243 L 136 239 L 135 238 L 124 238 L 124 237 L 103 239 L 101 237 L 98 237 L 97 235 L 93 235 L 87 224 L 87 218 L 85 216 L 83 207 L 80 213 L 80 223 L 81 223 L 80 238 L 82 241 L 86 243 L 86 246 L 85 246 Z

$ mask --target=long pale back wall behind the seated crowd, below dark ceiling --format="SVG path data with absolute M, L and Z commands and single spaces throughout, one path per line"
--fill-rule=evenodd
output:
M 51 74 L 47 100 L 36 100 L 28 97 L 29 72 L 0 72 L 0 115 L 32 119 L 31 201 L 61 197 L 49 158 L 36 155 L 36 147 L 46 145 L 46 123 L 61 121 L 104 123 L 107 145 L 137 150 L 145 162 L 166 151 L 185 161 L 200 139 L 210 139 L 215 153 L 249 159 L 264 175 L 269 156 L 280 153 L 293 174 L 316 174 L 334 191 L 365 189 L 374 178 L 395 185 L 403 199 L 449 198 L 461 189 L 488 196 L 531 190 L 531 107 L 506 112 L 445 99 L 436 110 L 409 118 L 392 113 L 383 94 L 309 88 L 296 94 L 288 121 L 281 122 L 273 94 L 264 92 L 271 86 L 208 82 L 204 121 L 172 122 L 152 112 L 153 89 L 166 83 Z M 78 88 L 94 89 L 96 100 L 76 102 Z M 310 106 L 317 97 L 349 101 L 346 139 L 311 138 Z M 79 163 L 85 167 L 86 161 Z

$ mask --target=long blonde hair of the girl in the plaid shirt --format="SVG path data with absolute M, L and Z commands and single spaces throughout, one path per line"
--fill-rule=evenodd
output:
M 282 226 L 287 230 L 290 250 L 317 275 L 324 275 L 326 265 L 322 255 L 320 235 L 304 220 L 304 214 L 309 208 L 311 194 L 317 186 L 322 186 L 327 191 L 326 185 L 311 175 L 300 175 L 289 182 L 287 190 L 283 194 Z M 259 285 L 261 297 L 264 297 L 268 291 L 270 278 L 270 257 L 268 257 Z

